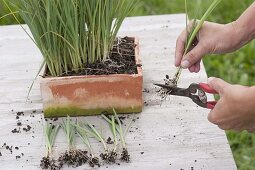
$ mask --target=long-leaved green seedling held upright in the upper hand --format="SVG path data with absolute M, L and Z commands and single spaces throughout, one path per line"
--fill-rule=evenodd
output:
M 208 18 L 208 16 L 212 13 L 212 11 L 217 7 L 217 5 L 221 2 L 222 0 L 214 0 L 212 2 L 212 4 L 209 6 L 209 8 L 206 10 L 206 12 L 204 13 L 204 15 L 202 16 L 201 20 L 197 20 L 196 18 L 193 20 L 193 23 L 192 23 L 192 26 L 191 26 L 191 29 L 189 30 L 188 27 L 187 27 L 187 24 L 186 24 L 186 30 L 187 30 L 187 40 L 186 40 L 186 44 L 185 44 L 185 50 L 184 50 L 184 54 L 183 55 L 186 55 L 196 36 L 197 36 L 197 33 L 199 32 L 200 28 L 202 27 L 202 25 L 204 24 L 205 20 Z M 188 10 L 187 10 L 187 0 L 185 0 L 185 9 L 186 9 L 186 23 L 187 23 L 187 20 L 188 20 Z M 174 86 L 177 86 L 178 84 L 178 81 L 179 81 L 179 78 L 180 78 L 180 75 L 181 75 L 181 72 L 182 72 L 182 68 L 181 67 L 178 67 L 177 68 L 177 71 L 174 75 L 174 78 L 171 80 L 171 84 L 173 84 Z

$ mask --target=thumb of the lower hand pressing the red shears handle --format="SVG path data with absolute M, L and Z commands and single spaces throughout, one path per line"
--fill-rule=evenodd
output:
M 210 77 L 208 78 L 208 85 L 221 95 L 223 94 L 224 88 L 228 86 L 229 83 L 219 78 Z

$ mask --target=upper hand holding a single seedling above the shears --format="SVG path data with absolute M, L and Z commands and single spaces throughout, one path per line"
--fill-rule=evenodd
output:
M 191 26 L 192 22 L 188 28 Z M 196 73 L 200 71 L 200 62 L 203 56 L 232 52 L 241 46 L 236 22 L 226 25 L 205 22 L 194 41 L 194 46 L 183 56 L 186 38 L 187 31 L 185 29 L 176 42 L 175 66 L 188 68 L 190 72 Z

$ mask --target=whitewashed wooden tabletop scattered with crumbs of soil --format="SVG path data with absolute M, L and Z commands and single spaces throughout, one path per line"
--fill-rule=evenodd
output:
M 133 17 L 123 24 L 120 35 L 140 38 L 144 88 L 150 91 L 144 92 L 148 105 L 137 115 L 139 119 L 131 128 L 134 132 L 127 135 L 131 163 L 100 169 L 236 169 L 225 132 L 207 120 L 209 110 L 182 97 L 171 96 L 161 101 L 152 85 L 161 82 L 166 74 L 172 76 L 175 73 L 175 41 L 184 26 L 183 14 Z M 39 50 L 20 26 L 0 27 L 0 152 L 3 155 L 0 156 L 0 169 L 40 169 L 45 148 L 38 80 L 31 91 L 30 101 L 25 103 L 25 99 L 41 61 Z M 180 80 L 180 86 L 187 87 L 191 82 L 206 82 L 207 75 L 202 67 L 199 74 L 184 71 Z M 33 110 L 36 113 L 31 114 Z M 17 128 L 15 112 L 18 111 L 24 111 L 25 115 L 20 119 L 23 126 L 32 127 L 30 132 L 11 133 Z M 88 119 L 97 127 L 105 126 L 99 118 Z M 109 133 L 109 129 L 104 133 Z M 11 154 L 1 148 L 4 142 L 18 146 L 19 150 L 13 149 Z M 101 145 L 92 142 L 95 151 L 99 152 Z M 80 141 L 77 143 L 78 147 L 84 147 Z M 56 154 L 67 148 L 62 132 L 56 145 Z M 16 160 L 21 153 L 24 156 Z

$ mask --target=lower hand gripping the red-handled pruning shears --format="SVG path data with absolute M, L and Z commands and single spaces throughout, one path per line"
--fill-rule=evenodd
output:
M 231 85 L 218 79 L 208 79 L 220 100 L 208 115 L 208 120 L 223 130 L 255 131 L 255 87 Z

